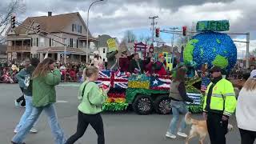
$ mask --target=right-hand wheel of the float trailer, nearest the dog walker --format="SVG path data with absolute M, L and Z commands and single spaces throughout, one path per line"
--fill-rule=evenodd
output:
M 170 98 L 167 95 L 158 96 L 154 101 L 154 110 L 158 114 L 170 114 Z

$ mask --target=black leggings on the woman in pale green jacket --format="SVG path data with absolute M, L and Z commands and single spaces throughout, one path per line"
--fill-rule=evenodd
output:
M 98 134 L 98 144 L 105 144 L 101 114 L 83 114 L 79 110 L 77 132 L 66 141 L 66 144 L 73 144 L 79 138 L 81 138 L 82 135 L 85 134 L 87 126 L 89 124 L 94 128 L 96 134 Z

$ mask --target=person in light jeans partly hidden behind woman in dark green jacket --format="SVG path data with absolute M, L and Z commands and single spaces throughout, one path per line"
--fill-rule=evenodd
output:
M 20 82 L 20 86 L 24 90 L 24 97 L 26 100 L 26 109 L 22 114 L 22 118 L 18 122 L 18 125 L 15 127 L 14 133 L 17 134 L 19 129 L 24 125 L 26 119 L 30 116 L 33 105 L 32 105 L 32 74 L 34 69 L 38 66 L 39 59 L 38 58 L 31 58 L 30 66 L 22 69 L 17 75 L 18 82 Z M 31 133 L 37 133 L 38 130 L 35 130 L 33 127 L 30 129 Z

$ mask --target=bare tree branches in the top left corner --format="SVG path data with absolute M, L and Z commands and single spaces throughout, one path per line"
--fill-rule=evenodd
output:
M 22 0 L 11 0 L 9 5 L 0 11 L 0 36 L 2 36 L 10 26 L 10 18 L 13 14 L 21 14 L 26 10 L 26 5 Z M 0 37 L 0 43 L 3 38 Z

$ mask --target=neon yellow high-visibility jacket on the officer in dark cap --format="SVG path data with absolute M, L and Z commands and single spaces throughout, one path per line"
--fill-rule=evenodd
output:
M 210 86 L 214 83 L 210 82 L 207 86 L 206 95 L 204 98 L 203 110 L 206 110 L 206 99 L 208 97 L 208 91 Z M 225 78 L 218 81 L 213 87 L 212 94 L 210 95 L 210 110 L 212 111 L 223 111 L 223 114 L 231 116 L 234 113 L 237 99 L 234 94 L 234 87 L 232 83 Z

